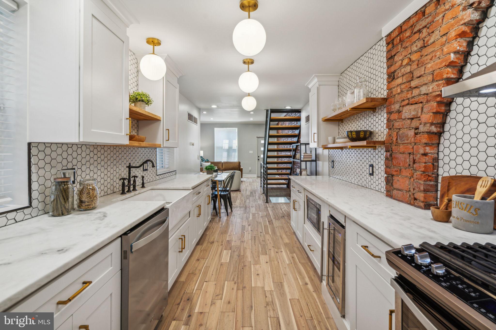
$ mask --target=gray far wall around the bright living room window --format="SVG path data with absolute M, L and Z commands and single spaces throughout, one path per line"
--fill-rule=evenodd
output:
M 265 124 L 244 123 L 208 123 L 201 124 L 200 150 L 203 157 L 214 160 L 214 129 L 215 128 L 237 128 L 238 129 L 238 161 L 243 167 L 243 176 L 256 176 L 256 137 L 264 136 Z M 253 151 L 253 153 L 249 153 Z M 251 167 L 251 171 L 249 168 Z

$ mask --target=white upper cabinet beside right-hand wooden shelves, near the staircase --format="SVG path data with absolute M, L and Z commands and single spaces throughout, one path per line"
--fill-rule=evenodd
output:
M 324 123 L 320 119 L 331 114 L 331 104 L 338 96 L 339 75 L 313 75 L 310 88 L 310 148 L 327 143 L 328 137 L 338 136 L 338 123 Z

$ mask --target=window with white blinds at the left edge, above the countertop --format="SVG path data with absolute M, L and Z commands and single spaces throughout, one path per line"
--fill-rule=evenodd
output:
M 26 22 L 25 4 L 0 0 L 0 213 L 30 205 Z

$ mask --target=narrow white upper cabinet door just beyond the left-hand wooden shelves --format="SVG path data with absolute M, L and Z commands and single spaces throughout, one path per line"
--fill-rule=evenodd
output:
M 163 146 L 177 148 L 178 140 L 178 111 L 179 84 L 175 76 L 165 75 L 164 82 L 164 143 Z

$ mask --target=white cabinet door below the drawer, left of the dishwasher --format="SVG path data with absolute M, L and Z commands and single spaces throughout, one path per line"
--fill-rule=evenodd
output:
M 91 330 L 121 329 L 121 271 L 72 315 L 72 328 L 82 325 Z

